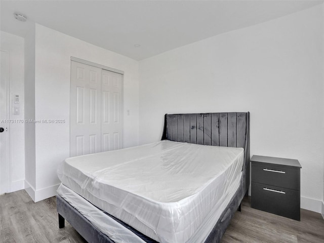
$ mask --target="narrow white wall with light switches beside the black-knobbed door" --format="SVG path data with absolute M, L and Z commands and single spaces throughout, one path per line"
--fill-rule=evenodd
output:
M 9 192 L 24 188 L 25 179 L 25 142 L 24 142 L 24 38 L 1 31 L 1 49 L 9 52 L 11 83 L 10 117 L 15 122 L 9 124 L 10 137 L 10 183 Z M 19 104 L 14 96 L 19 95 Z M 20 114 L 14 114 L 14 107 L 20 108 Z

